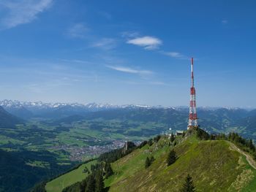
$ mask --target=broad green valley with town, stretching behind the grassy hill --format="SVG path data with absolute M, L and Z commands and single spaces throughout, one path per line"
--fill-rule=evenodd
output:
M 0 112 L 3 118 L 17 120 L 4 110 Z M 243 137 L 255 137 L 252 134 L 254 118 L 251 118 L 254 117 L 254 111 L 199 109 L 198 114 L 202 117 L 200 124 L 213 134 L 236 131 Z M 170 134 L 169 128 L 173 132 L 184 130 L 187 126 L 187 110 L 124 108 L 87 112 L 66 118 L 29 118 L 17 121 L 15 126 L 8 125 L 4 124 L 0 128 L 0 148 L 7 153 L 21 155 L 26 169 L 36 169 L 34 173 L 38 177 L 24 183 L 24 188 L 28 189 L 46 178 L 51 179 L 67 172 L 75 164 L 123 147 L 125 141 L 139 145 L 143 140 L 158 134 Z M 47 155 L 47 158 L 41 154 Z M 28 174 L 32 173 L 29 171 Z M 9 183 L 4 185 L 8 188 Z

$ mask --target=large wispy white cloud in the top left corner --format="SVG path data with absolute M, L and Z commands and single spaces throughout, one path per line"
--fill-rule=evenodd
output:
M 37 19 L 40 12 L 44 12 L 50 7 L 53 0 L 4 0 L 0 2 L 7 12 L 1 18 L 2 28 L 13 28 L 15 26 L 30 23 Z

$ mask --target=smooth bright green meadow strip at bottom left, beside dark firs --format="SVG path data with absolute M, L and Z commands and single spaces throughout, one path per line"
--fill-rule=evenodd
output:
M 78 167 L 78 169 L 72 170 L 67 174 L 63 174 L 60 177 L 57 177 L 55 180 L 51 180 L 49 183 L 46 184 L 45 189 L 47 192 L 61 192 L 64 188 L 74 183 L 77 183 L 86 178 L 88 175 L 87 173 L 83 173 L 83 169 L 87 167 L 91 170 L 91 165 L 96 164 L 95 161 L 90 161 L 87 164 L 83 164 Z

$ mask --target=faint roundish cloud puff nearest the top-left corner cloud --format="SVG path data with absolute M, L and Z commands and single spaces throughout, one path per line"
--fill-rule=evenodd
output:
M 90 31 L 88 27 L 86 27 L 85 24 L 83 23 L 76 23 L 75 25 L 71 26 L 67 30 L 67 34 L 69 37 L 74 37 L 74 38 L 85 38 L 86 33 Z

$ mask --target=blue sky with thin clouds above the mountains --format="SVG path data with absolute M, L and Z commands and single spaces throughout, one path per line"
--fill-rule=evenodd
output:
M 0 0 L 0 99 L 256 107 L 256 1 Z

